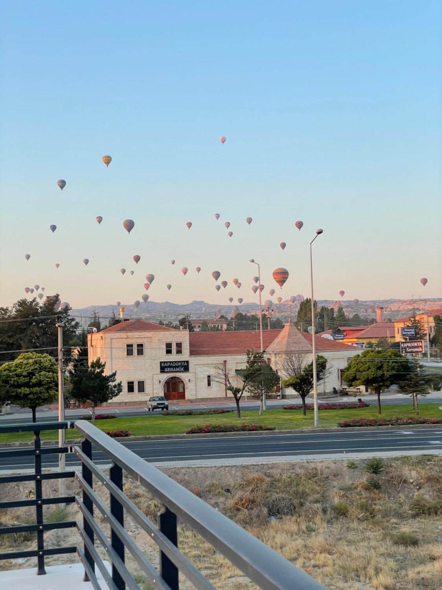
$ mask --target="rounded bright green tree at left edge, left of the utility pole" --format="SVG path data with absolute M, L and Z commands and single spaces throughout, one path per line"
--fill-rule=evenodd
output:
M 12 404 L 31 408 L 37 422 L 37 408 L 57 399 L 57 363 L 50 355 L 25 352 L 0 367 L 0 386 Z

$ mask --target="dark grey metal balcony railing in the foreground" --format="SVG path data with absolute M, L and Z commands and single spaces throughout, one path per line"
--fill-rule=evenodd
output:
M 44 447 L 39 443 L 39 432 L 35 432 L 34 448 L 29 450 L 0 450 L 0 467 L 2 457 L 34 455 L 35 474 L 24 476 L 0 477 L 0 483 L 8 481 L 35 481 L 35 500 L 14 500 L 0 502 L 0 509 L 16 506 L 36 506 L 36 525 L 23 527 L 1 527 L 0 534 L 21 531 L 37 531 L 37 550 L 0 553 L 0 559 L 11 557 L 34 557 L 38 559 L 38 572 L 44 572 L 45 555 L 56 553 L 77 552 L 85 569 L 85 580 L 91 582 L 95 590 L 100 590 L 100 582 L 95 575 L 95 566 L 100 570 L 104 581 L 112 590 L 139 590 L 139 586 L 125 563 L 126 552 L 130 553 L 141 571 L 154 588 L 161 590 L 179 590 L 179 573 L 185 576 L 198 590 L 215 590 L 215 587 L 191 563 L 177 547 L 177 519 L 189 526 L 195 533 L 210 543 L 217 552 L 222 553 L 233 565 L 238 567 L 248 578 L 265 590 L 319 590 L 324 586 L 296 568 L 260 540 L 246 532 L 232 520 L 213 509 L 192 492 L 180 486 L 156 467 L 151 466 L 143 458 L 138 457 L 125 445 L 108 437 L 88 421 L 75 423 L 55 422 L 37 424 L 39 430 L 55 430 L 58 428 L 75 428 L 84 438 L 80 446 L 75 447 Z M 2 432 L 29 431 L 37 426 L 15 425 L 0 427 Z M 109 474 L 95 465 L 92 451 L 101 451 L 109 459 Z M 66 453 L 73 451 L 81 462 L 81 472 L 66 471 L 64 474 L 41 473 L 41 454 Z M 146 488 L 162 508 L 158 514 L 158 523 L 154 524 L 136 504 L 123 493 L 123 472 L 133 477 Z M 42 499 L 41 478 L 75 477 L 80 484 L 80 496 L 67 496 L 62 499 Z M 109 492 L 109 507 L 94 491 L 93 480 L 100 481 Z M 37 488 L 39 487 L 39 491 Z M 83 523 L 68 521 L 45 525 L 42 520 L 41 504 L 75 502 L 83 516 Z M 94 519 L 94 511 L 103 516 L 110 526 L 110 540 Z M 129 514 L 159 548 L 159 571 L 147 559 L 124 529 L 124 514 Z M 83 549 L 68 547 L 44 549 L 44 531 L 62 527 L 76 527 L 83 540 Z M 95 541 L 103 547 L 112 564 L 109 572 L 103 559 L 95 548 Z

